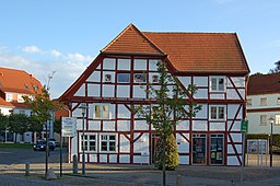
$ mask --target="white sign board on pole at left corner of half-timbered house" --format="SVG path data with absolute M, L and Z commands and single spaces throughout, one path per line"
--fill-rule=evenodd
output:
M 61 123 L 62 137 L 74 137 L 77 135 L 77 118 L 62 117 Z

